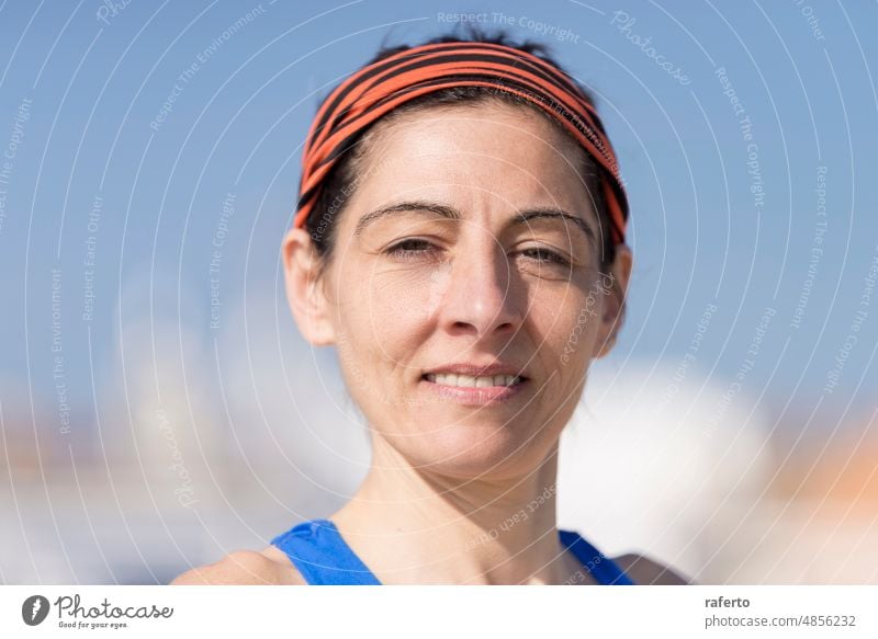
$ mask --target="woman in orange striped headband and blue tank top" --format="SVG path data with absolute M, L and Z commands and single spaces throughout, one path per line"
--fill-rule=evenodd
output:
M 323 103 L 283 243 L 372 436 L 325 520 L 173 583 L 683 583 L 555 527 L 558 444 L 621 323 L 627 202 L 585 91 L 503 37 L 382 52 Z

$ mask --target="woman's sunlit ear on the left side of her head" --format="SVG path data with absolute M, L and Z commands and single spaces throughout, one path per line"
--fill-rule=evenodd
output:
M 331 305 L 324 290 L 319 255 L 308 232 L 290 229 L 283 239 L 282 254 L 286 300 L 299 331 L 314 346 L 334 344 Z

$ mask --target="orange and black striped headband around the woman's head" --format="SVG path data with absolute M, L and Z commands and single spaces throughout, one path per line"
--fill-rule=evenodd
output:
M 451 87 L 486 87 L 518 95 L 556 119 L 597 162 L 614 241 L 624 242 L 628 198 L 612 146 L 588 98 L 560 69 L 534 55 L 474 42 L 399 52 L 363 67 L 329 94 L 308 130 L 293 225 L 305 225 L 329 171 L 367 127 L 409 100 Z

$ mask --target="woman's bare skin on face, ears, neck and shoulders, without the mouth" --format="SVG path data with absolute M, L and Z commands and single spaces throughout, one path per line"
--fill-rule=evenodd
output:
M 303 229 L 283 244 L 299 329 L 336 346 L 371 432 L 370 472 L 329 518 L 382 583 L 594 583 L 558 538 L 558 443 L 592 361 L 612 346 L 632 258 L 620 246 L 601 275 L 575 142 L 491 101 L 403 114 L 367 148 L 333 260 L 320 264 Z M 579 222 L 514 221 L 536 210 Z M 455 403 L 421 378 L 495 361 L 528 377 L 500 402 Z M 684 583 L 648 558 L 616 560 L 639 583 Z M 269 547 L 173 583 L 303 580 Z

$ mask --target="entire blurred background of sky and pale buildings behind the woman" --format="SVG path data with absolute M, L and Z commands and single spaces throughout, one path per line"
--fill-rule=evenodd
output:
M 0 582 L 166 583 L 369 464 L 280 241 L 319 100 L 460 23 L 550 45 L 631 201 L 559 516 L 702 583 L 878 583 L 878 5 L 0 4 Z

